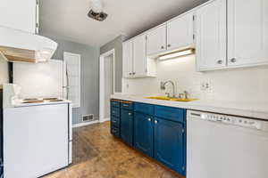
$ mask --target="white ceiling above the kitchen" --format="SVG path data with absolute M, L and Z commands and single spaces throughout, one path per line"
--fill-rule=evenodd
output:
M 89 0 L 41 0 L 41 33 L 101 46 L 116 36 L 135 36 L 207 0 L 103 0 L 105 21 L 89 19 Z

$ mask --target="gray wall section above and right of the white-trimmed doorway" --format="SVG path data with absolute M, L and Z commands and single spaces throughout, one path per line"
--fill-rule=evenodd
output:
M 121 77 L 122 77 L 122 40 L 123 36 L 118 36 L 113 39 L 111 42 L 103 45 L 100 48 L 100 53 L 106 53 L 110 50 L 115 51 L 115 63 L 114 63 L 114 92 L 121 93 Z

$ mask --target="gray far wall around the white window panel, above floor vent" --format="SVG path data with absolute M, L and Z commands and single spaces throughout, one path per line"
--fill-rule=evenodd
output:
M 43 36 L 46 35 L 43 34 Z M 79 53 L 81 55 L 81 105 L 80 108 L 73 109 L 72 123 L 80 123 L 82 116 L 88 114 L 94 114 L 98 118 L 99 47 L 48 37 L 58 43 L 57 51 L 53 56 L 54 59 L 63 60 L 63 52 Z

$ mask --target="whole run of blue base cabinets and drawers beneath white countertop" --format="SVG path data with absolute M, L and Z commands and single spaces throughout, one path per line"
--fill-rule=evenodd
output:
M 111 123 L 114 136 L 173 171 L 186 175 L 186 109 L 132 101 L 116 101 L 114 104 L 114 100 L 111 106 L 116 106 L 116 116 L 120 109 L 119 135 L 113 133 L 117 127 L 113 121 Z M 113 111 L 111 114 L 115 116 Z

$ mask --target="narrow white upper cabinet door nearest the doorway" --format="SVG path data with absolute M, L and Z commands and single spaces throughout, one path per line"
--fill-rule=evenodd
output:
M 133 73 L 133 42 L 123 44 L 123 77 L 132 77 Z

